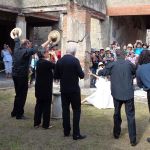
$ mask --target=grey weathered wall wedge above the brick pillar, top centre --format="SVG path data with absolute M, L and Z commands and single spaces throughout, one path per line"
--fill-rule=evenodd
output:
M 106 0 L 74 0 L 76 3 L 106 14 Z

